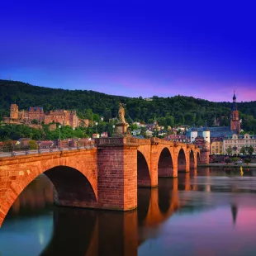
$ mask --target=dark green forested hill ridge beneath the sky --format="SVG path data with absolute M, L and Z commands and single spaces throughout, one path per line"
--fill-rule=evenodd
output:
M 230 99 L 231 99 L 230 95 Z M 45 111 L 53 109 L 76 109 L 78 116 L 93 118 L 92 112 L 104 116 L 105 120 L 116 117 L 119 102 L 126 104 L 128 121 L 151 122 L 156 117 L 160 124 L 186 124 L 229 126 L 231 102 L 209 102 L 194 97 L 153 97 L 145 101 L 142 97 L 121 97 L 101 92 L 43 88 L 28 83 L 0 80 L 0 119 L 9 115 L 10 104 L 17 102 L 20 109 L 41 106 Z M 256 102 L 238 103 L 242 128 L 256 132 Z M 90 111 L 92 110 L 92 111 Z

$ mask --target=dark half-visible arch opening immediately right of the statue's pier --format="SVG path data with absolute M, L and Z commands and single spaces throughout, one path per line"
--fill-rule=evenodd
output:
M 144 154 L 137 150 L 137 183 L 139 187 L 151 187 L 149 165 Z

